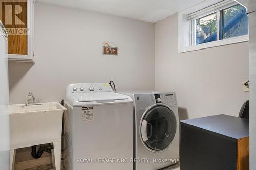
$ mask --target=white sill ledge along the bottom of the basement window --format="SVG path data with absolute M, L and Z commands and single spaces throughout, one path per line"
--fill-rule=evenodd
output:
M 199 44 L 199 45 L 183 47 L 183 48 L 179 48 L 178 52 L 185 53 L 185 52 L 190 52 L 190 51 L 202 50 L 205 48 L 212 48 L 212 47 L 241 43 L 241 42 L 246 42 L 246 41 L 249 41 L 249 35 L 244 35 L 244 36 L 240 36 L 240 37 L 228 38 L 225 40 L 219 40 L 219 41 L 208 42 L 208 43 Z

